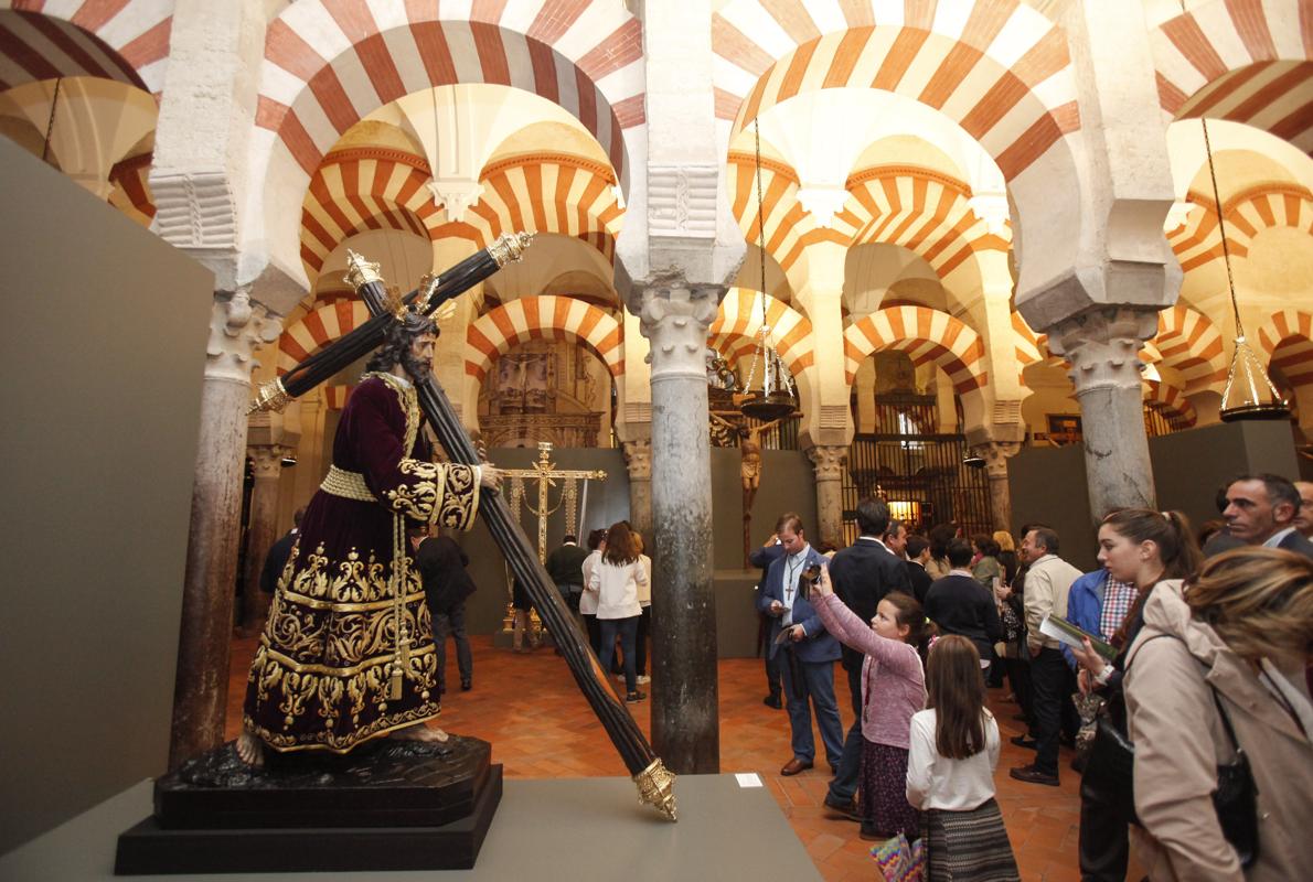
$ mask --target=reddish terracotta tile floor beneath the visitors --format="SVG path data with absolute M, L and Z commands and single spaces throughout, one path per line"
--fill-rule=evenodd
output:
M 506 765 L 507 777 L 628 774 L 579 694 L 565 662 L 551 650 L 515 655 L 509 650 L 494 648 L 490 637 L 475 637 L 471 643 L 474 689 L 448 693 L 440 721 L 444 728 L 491 742 L 492 756 Z M 236 639 L 232 644 L 228 738 L 236 735 L 253 646 L 253 639 Z M 448 672 L 454 685 L 452 647 L 448 652 L 452 655 Z M 836 694 L 846 696 L 846 684 L 840 680 L 838 685 Z M 857 826 L 829 818 L 821 805 L 830 778 L 829 768 L 822 764 L 822 768 L 797 777 L 780 777 L 779 769 L 790 756 L 789 724 L 783 710 L 771 710 L 762 704 L 765 694 L 762 663 L 755 659 L 721 662 L 720 693 L 721 770 L 756 772 L 762 776 L 826 879 L 874 878 L 874 865 L 868 856 L 869 843 L 857 837 Z M 1008 768 L 1028 763 L 1033 753 L 1007 742 L 1020 732 L 1022 724 L 1012 721 L 1016 707 L 1003 702 L 1002 694 L 1001 690 L 991 694 L 1003 735 L 1003 755 L 995 780 L 1022 878 L 1027 882 L 1079 879 L 1079 781 L 1066 766 L 1070 753 L 1062 751 L 1061 788 L 1028 785 L 1010 778 Z M 846 702 L 840 698 L 840 704 Z M 633 705 L 632 710 L 643 731 L 650 731 L 649 704 Z M 846 728 L 852 719 L 848 710 L 840 707 Z M 817 742 L 819 744 L 819 735 Z M 1132 873 L 1130 878 L 1141 875 Z

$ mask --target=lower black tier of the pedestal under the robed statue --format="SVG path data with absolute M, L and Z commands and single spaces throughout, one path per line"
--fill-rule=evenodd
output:
M 147 818 L 118 837 L 114 874 L 467 870 L 500 801 L 498 764 L 473 812 L 441 827 L 165 830 Z

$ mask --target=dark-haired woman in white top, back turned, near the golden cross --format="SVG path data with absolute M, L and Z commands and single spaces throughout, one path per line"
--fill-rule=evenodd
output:
M 597 659 L 603 671 L 611 669 L 616 658 L 616 634 L 624 654 L 625 701 L 634 704 L 647 697 L 638 692 L 638 673 L 634 667 L 634 643 L 642 606 L 638 587 L 647 587 L 647 571 L 639 560 L 633 533 L 624 521 L 607 530 L 607 550 L 588 576 L 588 587 L 597 592 L 597 623 L 601 625 L 601 654 Z

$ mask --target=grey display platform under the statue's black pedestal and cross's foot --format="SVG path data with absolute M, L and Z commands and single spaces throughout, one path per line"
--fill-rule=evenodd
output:
M 685 776 L 675 782 L 679 823 L 638 805 L 626 778 L 507 781 L 473 870 L 389 873 L 421 879 L 819 879 L 802 843 L 764 788 L 733 774 Z M 116 878 L 319 879 L 324 873 L 116 877 L 114 843 L 151 812 L 151 782 L 108 799 L 0 857 L 3 882 L 96 882 Z M 874 869 L 874 868 L 872 868 Z M 334 873 L 377 879 L 378 873 Z

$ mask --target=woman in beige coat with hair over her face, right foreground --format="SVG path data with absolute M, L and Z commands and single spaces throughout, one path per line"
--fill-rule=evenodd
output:
M 1313 562 L 1288 551 L 1230 551 L 1184 589 L 1154 589 L 1125 677 L 1144 824 L 1132 841 L 1152 879 L 1309 878 L 1310 646 Z M 1258 860 L 1243 869 L 1212 802 L 1217 765 L 1236 759 L 1213 689 L 1258 789 Z

